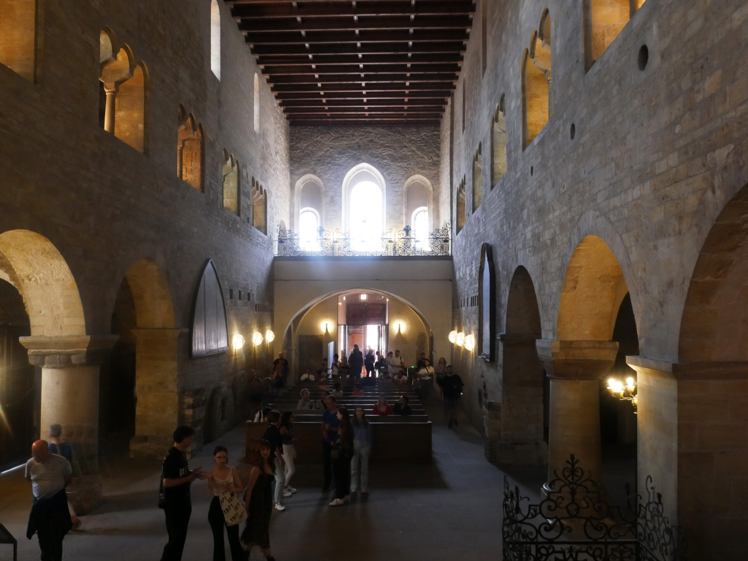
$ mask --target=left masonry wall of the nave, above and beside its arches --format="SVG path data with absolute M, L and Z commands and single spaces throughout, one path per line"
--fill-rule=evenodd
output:
M 266 344 L 191 359 L 188 329 L 209 258 L 223 284 L 229 339 L 239 332 L 250 341 L 252 332 L 272 329 L 274 248 L 251 225 L 250 196 L 254 179 L 267 190 L 269 222 L 287 220 L 288 125 L 222 1 L 220 80 L 210 66 L 208 0 L 37 4 L 36 80 L 0 65 L 0 230 L 31 230 L 54 244 L 73 273 L 92 335 L 110 332 L 129 267 L 155 261 L 184 331 L 177 341 L 180 421 L 201 429 L 200 408 L 209 406 L 214 388 L 230 387 L 242 371 L 268 368 Z M 147 67 L 144 153 L 99 126 L 105 26 Z M 202 192 L 177 178 L 180 104 L 203 127 Z M 223 204 L 224 149 L 239 161 L 238 215 Z M 230 290 L 242 291 L 242 300 L 231 299 Z

